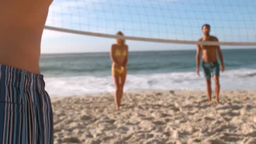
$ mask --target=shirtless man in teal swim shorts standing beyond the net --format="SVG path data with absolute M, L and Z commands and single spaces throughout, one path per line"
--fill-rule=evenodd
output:
M 210 35 L 210 25 L 205 24 L 202 26 L 202 33 L 203 37 L 199 39 L 199 41 L 218 41 L 216 37 Z M 220 59 L 220 69 L 224 71 L 224 63 L 223 63 L 223 56 L 222 51 L 220 50 L 219 46 L 215 45 L 197 45 L 197 52 L 196 52 L 196 73 L 200 75 L 199 70 L 199 63 L 202 51 L 202 67 L 205 73 L 206 83 L 207 83 L 207 93 L 208 93 L 208 100 L 211 103 L 212 101 L 212 88 L 211 88 L 211 73 L 213 75 L 213 79 L 215 82 L 215 92 L 216 92 L 216 103 L 219 104 L 219 63 L 217 58 L 217 53 Z

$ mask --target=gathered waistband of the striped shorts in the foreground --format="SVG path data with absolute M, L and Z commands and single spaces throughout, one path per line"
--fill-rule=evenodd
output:
M 0 64 L 0 86 L 44 88 L 44 76 L 27 70 Z

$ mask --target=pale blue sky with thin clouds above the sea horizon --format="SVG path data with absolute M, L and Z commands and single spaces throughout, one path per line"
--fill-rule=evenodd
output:
M 46 26 L 172 40 L 199 39 L 201 25 L 223 42 L 256 41 L 254 0 L 55 0 Z M 45 30 L 42 53 L 107 52 L 115 39 Z M 195 45 L 127 40 L 131 51 L 196 49 Z M 226 49 L 234 47 L 225 46 Z M 241 47 L 243 48 L 243 47 Z

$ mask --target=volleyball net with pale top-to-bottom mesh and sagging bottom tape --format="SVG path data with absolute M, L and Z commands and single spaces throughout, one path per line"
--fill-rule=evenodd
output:
M 45 29 L 176 44 L 256 46 L 254 0 L 54 0 Z M 211 25 L 218 42 L 198 41 Z M 115 33 L 121 31 L 124 37 Z

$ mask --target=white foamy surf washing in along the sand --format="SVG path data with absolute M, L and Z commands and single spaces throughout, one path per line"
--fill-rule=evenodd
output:
M 45 77 L 46 91 L 51 96 L 83 95 L 114 91 L 111 76 Z M 222 89 L 255 89 L 256 70 L 228 70 L 220 74 Z M 205 89 L 203 74 L 194 72 L 127 75 L 125 91 L 135 89 Z M 212 83 L 214 87 L 214 83 Z

